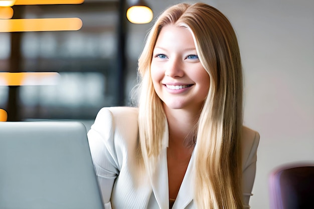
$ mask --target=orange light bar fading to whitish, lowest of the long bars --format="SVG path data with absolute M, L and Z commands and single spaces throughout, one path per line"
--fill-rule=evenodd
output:
M 0 72 L 0 86 L 43 86 L 56 85 L 60 74 L 56 72 Z

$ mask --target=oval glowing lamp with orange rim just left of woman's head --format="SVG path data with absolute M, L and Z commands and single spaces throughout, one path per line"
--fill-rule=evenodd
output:
M 152 11 L 145 6 L 133 6 L 126 11 L 126 17 L 131 23 L 144 24 L 152 20 Z

